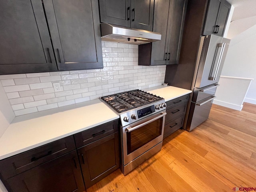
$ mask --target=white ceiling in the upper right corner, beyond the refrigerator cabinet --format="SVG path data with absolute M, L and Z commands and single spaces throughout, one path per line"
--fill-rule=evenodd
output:
M 227 38 L 234 38 L 238 34 L 256 25 L 256 0 L 227 0 L 234 6 Z

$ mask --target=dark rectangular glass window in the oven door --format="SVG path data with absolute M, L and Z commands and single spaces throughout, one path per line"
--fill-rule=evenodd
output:
M 132 132 L 127 132 L 127 154 L 154 140 L 162 134 L 163 118 L 159 118 Z

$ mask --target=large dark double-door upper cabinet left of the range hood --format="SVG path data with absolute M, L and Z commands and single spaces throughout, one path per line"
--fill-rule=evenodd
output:
M 97 0 L 1 1 L 0 16 L 0 74 L 103 68 Z

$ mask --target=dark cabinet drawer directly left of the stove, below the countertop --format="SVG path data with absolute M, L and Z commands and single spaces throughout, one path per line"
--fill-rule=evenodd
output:
M 112 122 L 105 123 L 94 128 L 85 130 L 83 132 L 74 134 L 76 147 L 82 147 L 117 131 L 118 120 L 114 120 Z

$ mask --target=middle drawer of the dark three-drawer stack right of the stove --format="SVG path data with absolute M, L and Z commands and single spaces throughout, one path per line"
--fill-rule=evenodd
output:
M 187 103 L 183 103 L 174 108 L 166 110 L 165 123 L 168 124 L 180 116 L 183 116 L 186 112 Z

